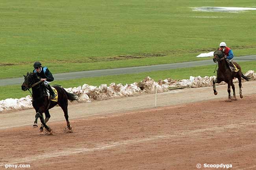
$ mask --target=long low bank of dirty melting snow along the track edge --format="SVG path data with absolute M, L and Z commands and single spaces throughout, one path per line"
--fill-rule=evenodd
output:
M 256 80 L 256 73 L 252 70 L 247 71 L 245 76 L 250 77 L 250 80 Z M 88 84 L 83 84 L 83 86 L 78 86 L 74 88 L 65 89 L 69 93 L 74 93 L 78 95 L 79 101 L 89 102 L 93 100 L 107 100 L 115 97 L 128 97 L 133 95 L 140 95 L 143 93 L 158 93 L 168 91 L 170 88 L 198 88 L 212 86 L 212 81 L 216 76 L 205 76 L 205 77 L 193 77 L 190 76 L 189 79 L 183 80 L 173 80 L 165 79 L 155 82 L 150 77 L 145 77 L 141 82 L 134 82 L 132 84 L 115 84 L 111 83 L 109 86 L 107 84 L 102 84 L 98 87 L 89 86 Z M 245 81 L 244 79 L 242 79 Z M 234 82 L 238 82 L 234 79 Z M 225 82 L 221 82 L 221 85 Z M 28 95 L 27 97 L 22 97 L 20 99 L 6 99 L 0 101 L 0 113 L 8 112 L 14 110 L 25 110 L 33 108 L 32 98 Z

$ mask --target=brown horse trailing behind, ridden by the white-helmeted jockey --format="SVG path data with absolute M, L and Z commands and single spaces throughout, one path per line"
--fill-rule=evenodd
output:
M 233 84 L 234 77 L 238 79 L 239 82 L 239 94 L 240 98 L 243 98 L 242 95 L 242 78 L 249 81 L 249 77 L 243 75 L 241 71 L 241 67 L 236 62 L 233 62 L 236 65 L 236 68 L 239 69 L 237 72 L 233 72 L 229 68 L 229 64 L 226 61 L 226 57 L 224 57 L 221 50 L 217 50 L 213 53 L 213 62 L 218 62 L 219 68 L 217 70 L 217 78 L 213 80 L 213 92 L 215 95 L 218 94 L 215 88 L 215 83 L 221 83 L 222 81 L 228 84 L 228 99 L 231 99 L 230 96 L 230 86 L 232 86 L 234 100 L 236 99 L 235 85 Z

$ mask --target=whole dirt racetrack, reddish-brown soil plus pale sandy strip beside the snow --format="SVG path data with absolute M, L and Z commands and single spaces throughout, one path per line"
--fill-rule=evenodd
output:
M 59 107 L 50 110 L 53 135 L 32 128 L 33 110 L 1 113 L 0 169 L 256 170 L 256 82 L 243 83 L 243 99 L 235 86 L 231 102 L 223 85 L 217 96 L 212 87 L 160 93 L 157 108 L 154 94 L 70 104 L 73 133 L 63 132 Z

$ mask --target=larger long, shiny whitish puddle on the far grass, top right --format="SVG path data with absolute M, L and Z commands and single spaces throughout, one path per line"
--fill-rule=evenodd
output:
M 191 7 L 193 11 L 203 11 L 203 12 L 230 12 L 238 13 L 247 10 L 256 10 L 256 8 L 249 7 Z

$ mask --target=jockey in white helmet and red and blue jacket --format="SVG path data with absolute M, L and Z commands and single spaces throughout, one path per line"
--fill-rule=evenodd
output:
M 235 71 L 235 72 L 239 71 L 239 69 L 237 69 L 235 64 L 232 62 L 232 59 L 234 58 L 232 49 L 228 48 L 226 46 L 225 42 L 221 42 L 219 44 L 219 50 L 221 50 L 223 52 L 223 54 L 226 57 L 227 62 L 230 63 L 230 66 L 232 68 L 231 71 Z

